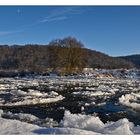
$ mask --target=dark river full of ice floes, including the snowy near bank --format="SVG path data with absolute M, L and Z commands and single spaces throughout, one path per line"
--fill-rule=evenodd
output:
M 139 71 L 1 78 L 0 109 L 0 134 L 140 134 Z

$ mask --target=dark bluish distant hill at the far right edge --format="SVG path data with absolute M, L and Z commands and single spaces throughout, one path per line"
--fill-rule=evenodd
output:
M 136 68 L 140 69 L 140 54 L 119 57 L 134 64 Z

